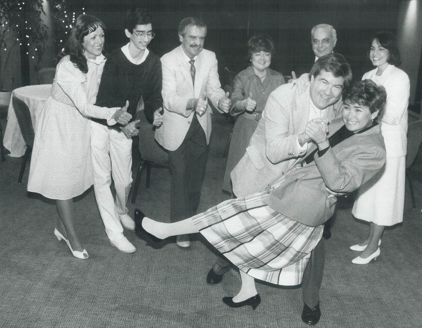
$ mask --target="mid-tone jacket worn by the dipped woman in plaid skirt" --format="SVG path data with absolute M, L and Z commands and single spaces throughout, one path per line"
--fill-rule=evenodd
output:
M 330 135 L 343 125 L 341 118 L 330 124 Z M 316 146 L 310 147 L 310 151 Z M 379 125 L 329 148 L 314 162 L 292 167 L 275 184 L 265 203 L 289 219 L 316 227 L 333 216 L 337 197 L 326 190 L 349 193 L 380 171 L 385 163 L 384 139 Z

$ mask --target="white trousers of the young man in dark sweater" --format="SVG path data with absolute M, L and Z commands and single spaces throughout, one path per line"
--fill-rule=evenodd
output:
M 127 139 L 123 132 L 91 121 L 91 158 L 95 199 L 101 219 L 108 239 L 116 240 L 123 234 L 119 215 L 129 211 L 126 202 L 132 184 L 132 139 Z M 116 201 L 111 194 L 111 176 Z

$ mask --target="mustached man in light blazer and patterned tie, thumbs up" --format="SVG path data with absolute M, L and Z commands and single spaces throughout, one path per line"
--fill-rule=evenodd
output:
M 228 112 L 231 105 L 220 87 L 215 54 L 203 49 L 206 25 L 187 17 L 178 34 L 181 45 L 161 58 L 164 114 L 155 131 L 157 142 L 169 151 L 171 222 L 195 215 L 199 205 L 211 135 L 210 103 L 219 112 Z M 177 236 L 176 243 L 189 247 L 189 236 Z

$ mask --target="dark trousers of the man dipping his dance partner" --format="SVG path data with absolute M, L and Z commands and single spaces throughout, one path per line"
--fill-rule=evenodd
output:
M 311 309 L 319 302 L 319 288 L 324 274 L 324 259 L 325 245 L 324 238 L 321 238 L 311 252 L 311 259 L 309 259 L 302 278 L 303 302 Z M 223 275 L 231 268 L 232 264 L 225 260 L 224 256 L 218 256 L 213 265 L 213 270 L 217 275 Z

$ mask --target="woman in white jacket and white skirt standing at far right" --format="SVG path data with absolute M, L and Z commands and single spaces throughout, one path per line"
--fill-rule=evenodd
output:
M 374 35 L 369 59 L 376 68 L 365 73 L 362 80 L 373 80 L 387 91 L 387 104 L 379 118 L 387 161 L 384 170 L 359 189 L 354 202 L 353 215 L 370 222 L 369 234 L 350 247 L 362 252 L 352 260 L 354 264 L 367 264 L 376 258 L 384 227 L 403 221 L 409 77 L 396 67 L 401 63 L 400 54 L 390 32 Z

